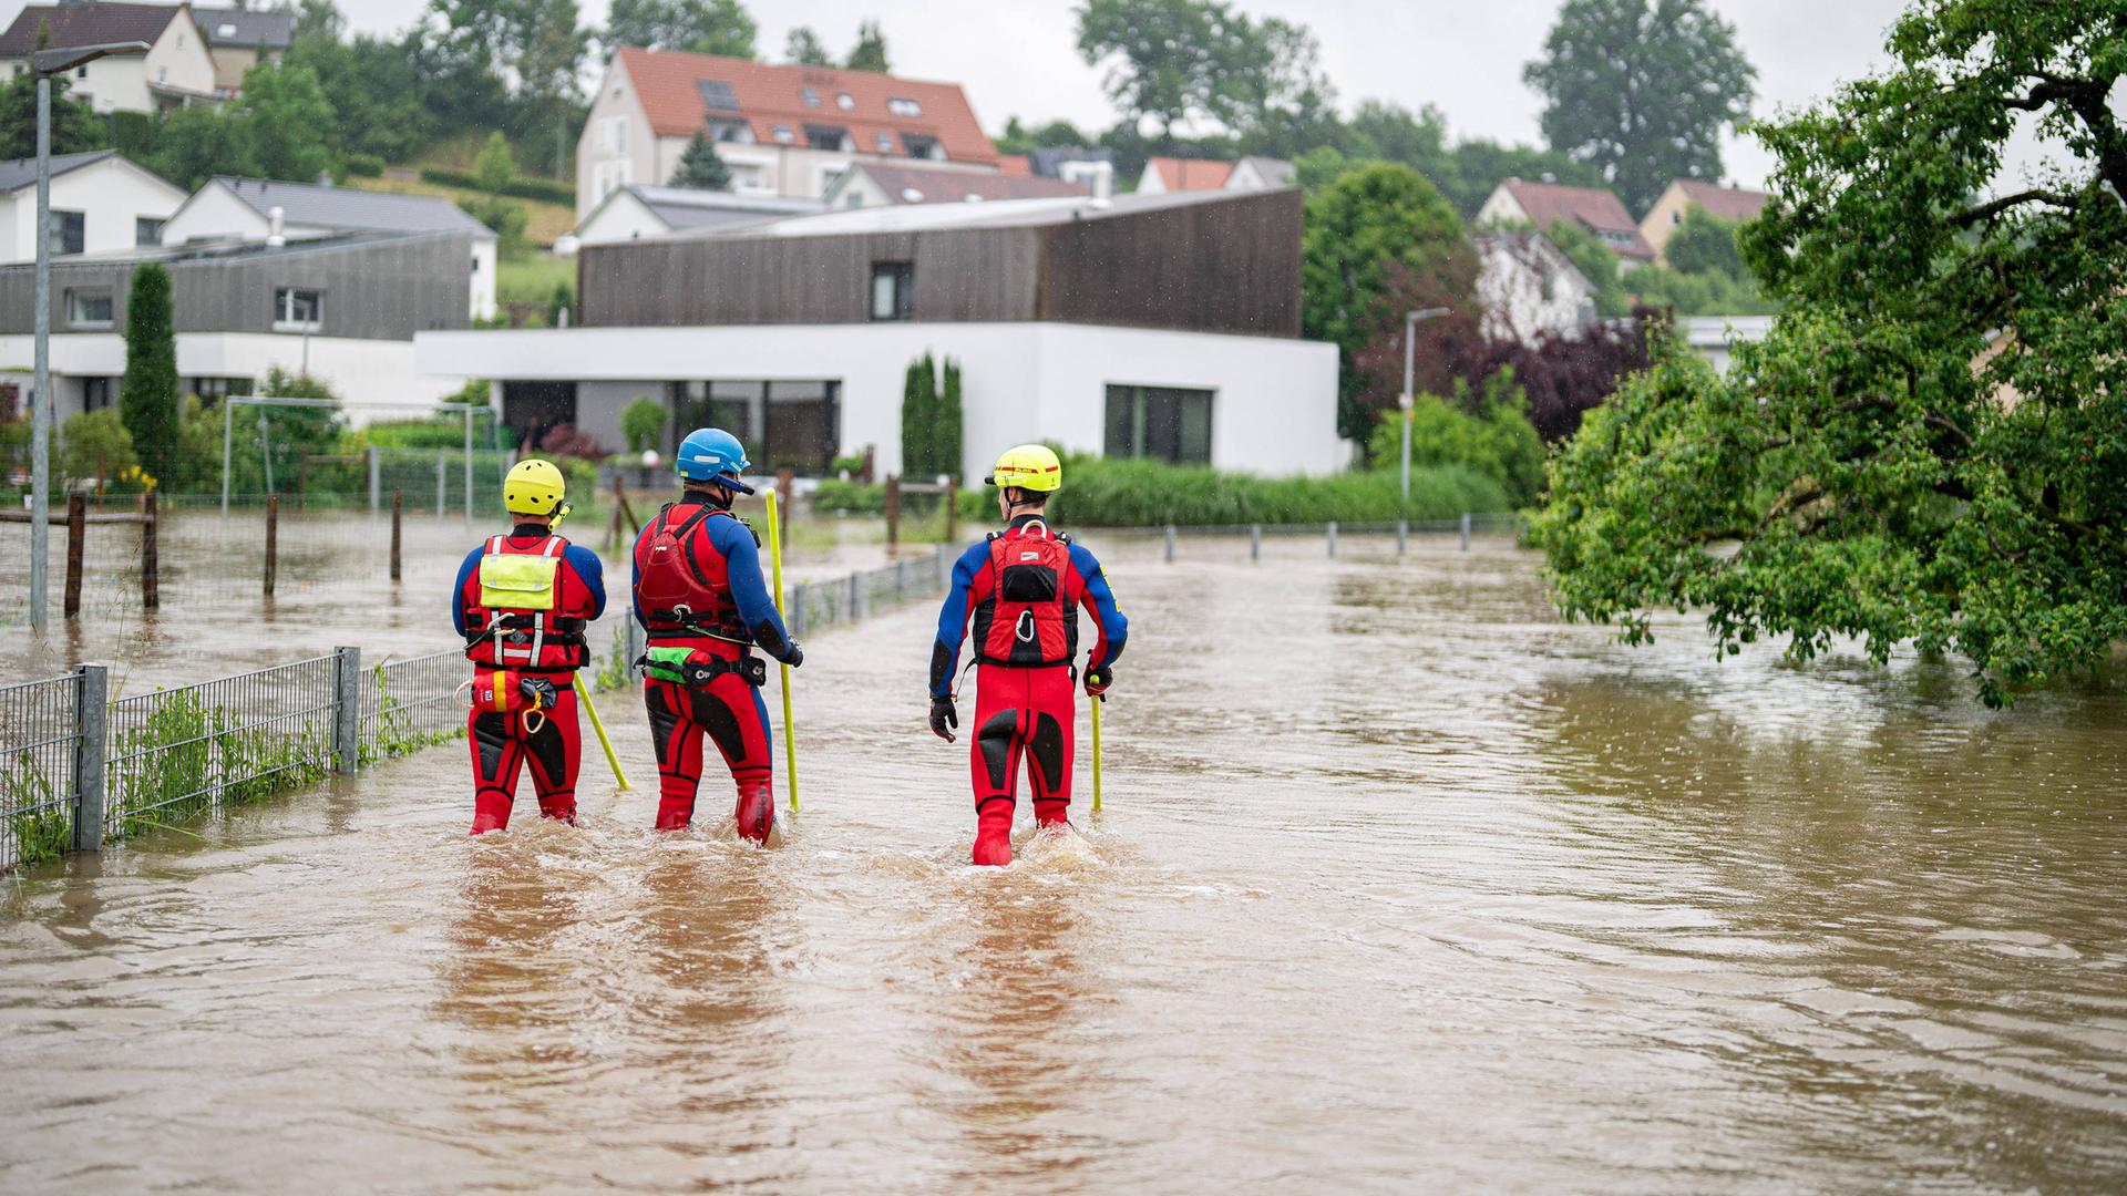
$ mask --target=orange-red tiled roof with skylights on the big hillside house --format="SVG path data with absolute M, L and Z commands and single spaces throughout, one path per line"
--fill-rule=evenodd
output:
M 900 134 L 923 134 L 938 138 L 953 162 L 998 160 L 957 83 L 917 83 L 827 66 L 770 66 L 672 49 L 621 47 L 615 60 L 634 81 L 657 136 L 693 136 L 702 121 L 723 117 L 751 123 L 761 145 L 783 145 L 772 126 L 789 128 L 795 145 L 804 145 L 804 126 L 813 123 L 849 130 L 859 153 L 878 153 L 876 134 L 889 134 L 893 153 L 906 153 Z M 702 81 L 727 83 L 738 111 L 710 111 L 698 87 Z M 819 98 L 817 106 L 804 102 L 806 87 Z M 836 102 L 842 94 L 851 98 L 847 111 Z M 887 100 L 915 100 L 921 115 L 895 115 L 887 111 Z

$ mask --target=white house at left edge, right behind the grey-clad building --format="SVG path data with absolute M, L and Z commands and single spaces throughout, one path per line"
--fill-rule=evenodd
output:
M 53 253 L 162 245 L 185 192 L 115 149 L 51 160 Z M 36 160 L 0 162 L 0 262 L 36 260 Z

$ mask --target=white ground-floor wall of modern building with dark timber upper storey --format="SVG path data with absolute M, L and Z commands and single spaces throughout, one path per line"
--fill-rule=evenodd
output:
M 964 475 L 998 449 L 1053 438 L 1100 451 L 1106 385 L 1212 389 L 1212 464 L 1272 475 L 1334 472 L 1336 349 L 1312 340 L 1153 332 L 1074 323 L 832 323 L 768 328 L 572 328 L 421 332 L 428 375 L 627 383 L 579 387 L 593 434 L 664 381 L 783 379 L 842 383 L 842 451 L 878 449 L 900 468 L 902 377 L 932 351 L 961 362 Z M 608 394 L 610 392 L 610 394 Z M 593 404 L 598 409 L 593 409 Z M 613 411 L 604 411 L 613 406 Z

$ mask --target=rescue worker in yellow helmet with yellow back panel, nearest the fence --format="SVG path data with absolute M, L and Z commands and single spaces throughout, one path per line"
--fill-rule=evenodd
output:
M 517 462 L 502 479 L 515 528 L 466 553 L 451 587 L 451 624 L 472 660 L 472 834 L 504 830 L 517 773 L 532 766 L 540 817 L 576 821 L 576 670 L 583 630 L 606 611 L 598 553 L 553 534 L 568 515 L 562 470 Z

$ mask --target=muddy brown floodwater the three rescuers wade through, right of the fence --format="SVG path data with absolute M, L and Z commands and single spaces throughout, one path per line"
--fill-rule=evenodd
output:
M 1108 809 L 1002 873 L 915 607 L 808 645 L 766 851 L 596 758 L 583 830 L 468 841 L 445 747 L 11 881 L 0 1187 L 2127 1185 L 2116 677 L 1989 713 L 1614 647 L 1497 541 L 1087 538 Z

